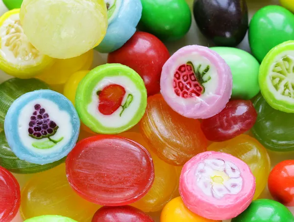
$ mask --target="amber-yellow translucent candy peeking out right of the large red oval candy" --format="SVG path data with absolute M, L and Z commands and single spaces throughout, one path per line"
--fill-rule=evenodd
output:
M 151 154 L 154 164 L 155 178 L 151 189 L 144 197 L 131 205 L 145 212 L 161 210 L 178 189 L 179 173 L 176 167 L 167 164 L 152 153 L 141 134 L 126 132 L 119 136 L 132 139 L 144 146 Z

